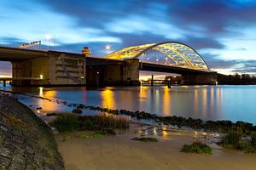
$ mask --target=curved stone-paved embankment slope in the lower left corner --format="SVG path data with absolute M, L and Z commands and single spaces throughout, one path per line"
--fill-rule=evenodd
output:
M 26 105 L 1 93 L 0 169 L 64 169 L 51 129 Z

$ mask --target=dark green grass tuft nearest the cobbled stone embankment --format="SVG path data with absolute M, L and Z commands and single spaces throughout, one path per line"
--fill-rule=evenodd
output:
M 73 131 L 78 127 L 78 116 L 71 113 L 59 114 L 55 117 L 50 126 L 56 127 L 59 132 Z

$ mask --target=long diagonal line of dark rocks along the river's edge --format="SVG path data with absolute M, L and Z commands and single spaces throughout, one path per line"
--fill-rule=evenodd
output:
M 207 132 L 225 133 L 227 131 L 236 130 L 240 128 L 243 133 L 250 133 L 252 131 L 256 131 L 256 125 L 253 126 L 253 123 L 250 123 L 250 122 L 242 122 L 242 121 L 231 122 L 229 120 L 202 121 L 201 119 L 195 119 L 191 117 L 185 118 L 183 116 L 157 116 L 155 114 L 151 114 L 145 111 L 127 111 L 122 109 L 113 110 L 108 108 L 102 108 L 101 106 L 69 103 L 61 99 L 48 99 L 48 98 L 41 97 L 34 94 L 25 94 L 25 93 L 12 92 L 12 91 L 6 91 L 6 90 L 0 90 L 0 93 L 20 94 L 20 95 L 25 95 L 31 98 L 48 100 L 49 102 L 55 102 L 57 104 L 66 105 L 67 107 L 73 107 L 73 111 L 74 110 L 77 110 L 77 111 L 90 110 L 90 111 L 107 112 L 113 115 L 131 116 L 131 118 L 138 121 L 146 120 L 146 121 L 155 122 L 155 124 L 165 124 L 167 126 L 174 126 L 174 127 L 186 127 L 186 128 L 192 128 L 194 130 L 203 129 L 204 131 L 207 131 Z M 54 112 L 53 115 L 54 114 L 58 114 L 58 113 Z M 47 116 L 47 113 L 46 113 L 46 116 Z

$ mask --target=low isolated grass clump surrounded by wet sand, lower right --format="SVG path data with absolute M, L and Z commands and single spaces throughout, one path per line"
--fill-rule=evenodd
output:
M 184 144 L 181 151 L 185 153 L 212 154 L 212 148 L 207 144 L 203 144 L 199 141 L 193 142 L 192 144 Z

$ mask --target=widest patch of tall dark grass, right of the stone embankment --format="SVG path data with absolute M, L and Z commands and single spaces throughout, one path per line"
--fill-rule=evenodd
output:
M 49 125 L 59 132 L 72 132 L 74 130 L 92 130 L 101 134 L 115 134 L 115 129 L 129 128 L 129 119 L 125 116 L 116 116 L 102 113 L 97 116 L 77 116 L 73 113 L 56 115 Z

